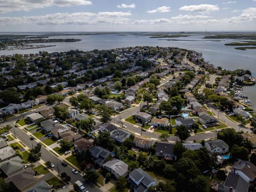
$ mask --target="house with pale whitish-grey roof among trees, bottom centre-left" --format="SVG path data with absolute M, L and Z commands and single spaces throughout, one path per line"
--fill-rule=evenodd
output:
M 126 177 L 128 175 L 128 164 L 119 159 L 113 158 L 102 164 L 102 167 L 115 175 L 116 178 L 119 176 Z

